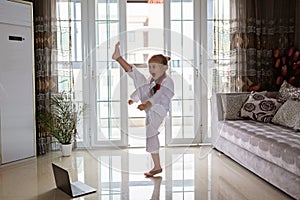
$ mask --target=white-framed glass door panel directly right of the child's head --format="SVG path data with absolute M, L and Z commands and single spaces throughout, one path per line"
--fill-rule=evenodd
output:
M 199 48 L 194 39 L 193 0 L 171 0 L 165 6 L 169 20 L 165 21 L 167 49 L 171 52 L 170 73 L 175 82 L 175 96 L 172 101 L 172 116 L 168 121 L 167 144 L 198 144 L 201 142 L 201 116 L 199 98 L 200 74 L 194 53 Z

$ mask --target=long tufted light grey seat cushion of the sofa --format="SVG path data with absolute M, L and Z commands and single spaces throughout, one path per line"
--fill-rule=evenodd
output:
M 300 132 L 254 120 L 220 121 L 219 137 L 300 176 Z

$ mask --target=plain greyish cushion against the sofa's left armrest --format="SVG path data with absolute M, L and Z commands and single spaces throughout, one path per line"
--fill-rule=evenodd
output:
M 245 94 L 223 94 L 221 96 L 222 106 L 224 110 L 224 119 L 225 120 L 237 120 L 242 119 L 240 117 L 241 108 L 248 98 L 249 93 Z

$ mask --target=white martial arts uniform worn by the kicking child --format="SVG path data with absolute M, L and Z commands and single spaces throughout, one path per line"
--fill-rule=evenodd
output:
M 151 78 L 146 77 L 132 65 L 132 70 L 127 72 L 133 79 L 136 90 L 132 93 L 130 98 L 135 101 L 146 103 L 151 102 L 152 106 L 145 110 L 146 112 L 146 151 L 150 153 L 158 153 L 159 151 L 159 127 L 170 109 L 170 102 L 174 96 L 174 82 L 166 76 L 160 88 L 155 94 L 151 94 L 152 88 L 156 85 L 151 82 Z M 151 82 L 151 83 L 150 83 Z

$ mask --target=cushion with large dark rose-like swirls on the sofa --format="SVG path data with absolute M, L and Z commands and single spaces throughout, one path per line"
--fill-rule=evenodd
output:
M 281 105 L 282 102 L 279 99 L 252 92 L 241 108 L 241 117 L 270 122 Z

